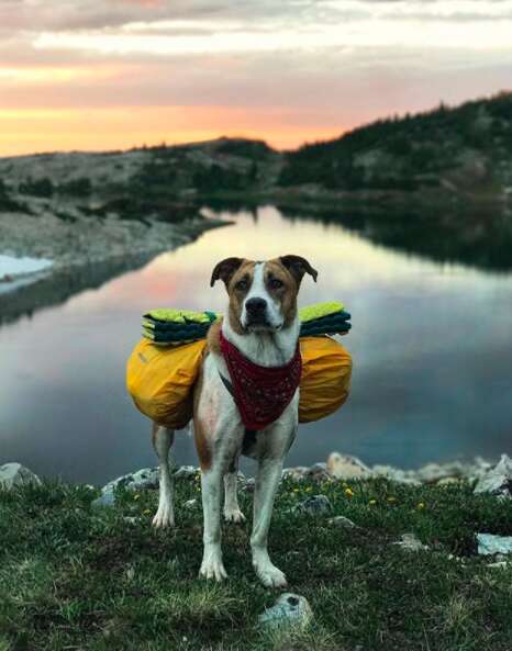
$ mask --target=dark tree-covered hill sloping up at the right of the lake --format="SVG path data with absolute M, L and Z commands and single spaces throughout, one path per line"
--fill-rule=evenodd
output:
M 278 183 L 331 190 L 512 192 L 512 93 L 379 120 L 289 151 Z

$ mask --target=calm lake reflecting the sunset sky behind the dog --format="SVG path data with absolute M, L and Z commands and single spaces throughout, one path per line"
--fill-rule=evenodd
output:
M 0 464 L 90 483 L 155 465 L 149 422 L 124 388 L 141 315 L 222 311 L 222 283 L 209 287 L 220 259 L 285 254 L 319 270 L 300 304 L 340 300 L 352 313 L 342 341 L 354 358 L 348 402 L 300 427 L 286 465 L 333 450 L 403 468 L 511 452 L 512 274 L 431 261 L 272 206 L 208 212 L 234 224 L 0 326 Z M 174 449 L 177 463 L 197 465 L 185 433 Z

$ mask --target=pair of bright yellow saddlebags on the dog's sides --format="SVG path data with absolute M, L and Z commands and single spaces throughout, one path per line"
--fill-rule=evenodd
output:
M 205 339 L 180 346 L 157 346 L 142 339 L 126 367 L 126 386 L 136 407 L 170 429 L 192 417 L 193 384 L 207 347 Z M 302 377 L 299 420 L 311 423 L 333 414 L 346 401 L 352 358 L 331 337 L 301 337 Z

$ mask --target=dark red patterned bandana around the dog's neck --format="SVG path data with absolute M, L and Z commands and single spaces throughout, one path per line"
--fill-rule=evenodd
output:
M 279 418 L 299 386 L 302 372 L 299 344 L 283 367 L 255 364 L 227 341 L 222 332 L 220 344 L 242 420 L 247 429 L 258 431 Z

